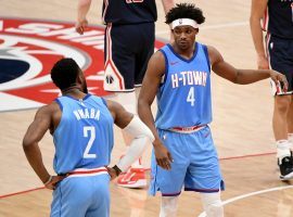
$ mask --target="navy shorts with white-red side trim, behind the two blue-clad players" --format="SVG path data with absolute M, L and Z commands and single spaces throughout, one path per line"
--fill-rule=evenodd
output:
M 107 24 L 104 39 L 106 91 L 133 91 L 140 87 L 154 52 L 154 23 Z

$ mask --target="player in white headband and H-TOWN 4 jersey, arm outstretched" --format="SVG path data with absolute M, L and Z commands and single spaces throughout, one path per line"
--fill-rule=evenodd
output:
M 150 59 L 138 100 L 138 113 L 155 141 L 150 194 L 162 193 L 160 217 L 174 217 L 178 195 L 201 193 L 208 217 L 224 216 L 224 181 L 208 124 L 212 122 L 211 68 L 234 84 L 246 85 L 268 77 L 284 84 L 275 71 L 238 69 L 224 61 L 214 47 L 195 41 L 205 21 L 194 4 L 180 3 L 166 15 L 175 41 Z M 157 98 L 154 122 L 151 104 Z M 165 169 L 164 169 L 165 168 Z

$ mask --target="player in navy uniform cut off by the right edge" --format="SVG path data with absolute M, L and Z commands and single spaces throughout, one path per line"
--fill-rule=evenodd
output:
M 262 29 L 267 31 L 266 51 Z M 289 81 L 286 92 L 271 84 L 275 95 L 272 130 L 280 179 L 292 179 L 293 157 L 290 148 L 293 145 L 293 0 L 253 0 L 251 31 L 258 68 L 279 71 Z

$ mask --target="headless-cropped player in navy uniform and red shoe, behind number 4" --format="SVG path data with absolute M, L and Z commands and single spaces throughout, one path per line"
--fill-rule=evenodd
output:
M 165 12 L 174 0 L 162 0 Z M 79 0 L 76 30 L 84 34 L 86 15 L 91 0 Z M 157 18 L 155 0 L 104 0 L 103 22 L 106 24 L 104 40 L 104 89 L 113 92 L 111 100 L 137 114 L 137 95 L 146 64 L 154 52 L 154 22 Z M 126 145 L 130 137 L 123 130 Z M 141 161 L 137 161 L 117 183 L 127 188 L 146 186 Z

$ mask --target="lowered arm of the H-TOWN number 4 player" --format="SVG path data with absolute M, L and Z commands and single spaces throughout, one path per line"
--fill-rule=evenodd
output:
M 165 73 L 165 58 L 162 52 L 155 52 L 149 61 L 146 73 L 138 99 L 138 114 L 141 120 L 152 130 L 155 140 L 153 142 L 156 163 L 158 166 L 170 169 L 171 155 L 161 141 L 152 115 L 151 105 L 156 95 L 162 77 Z

